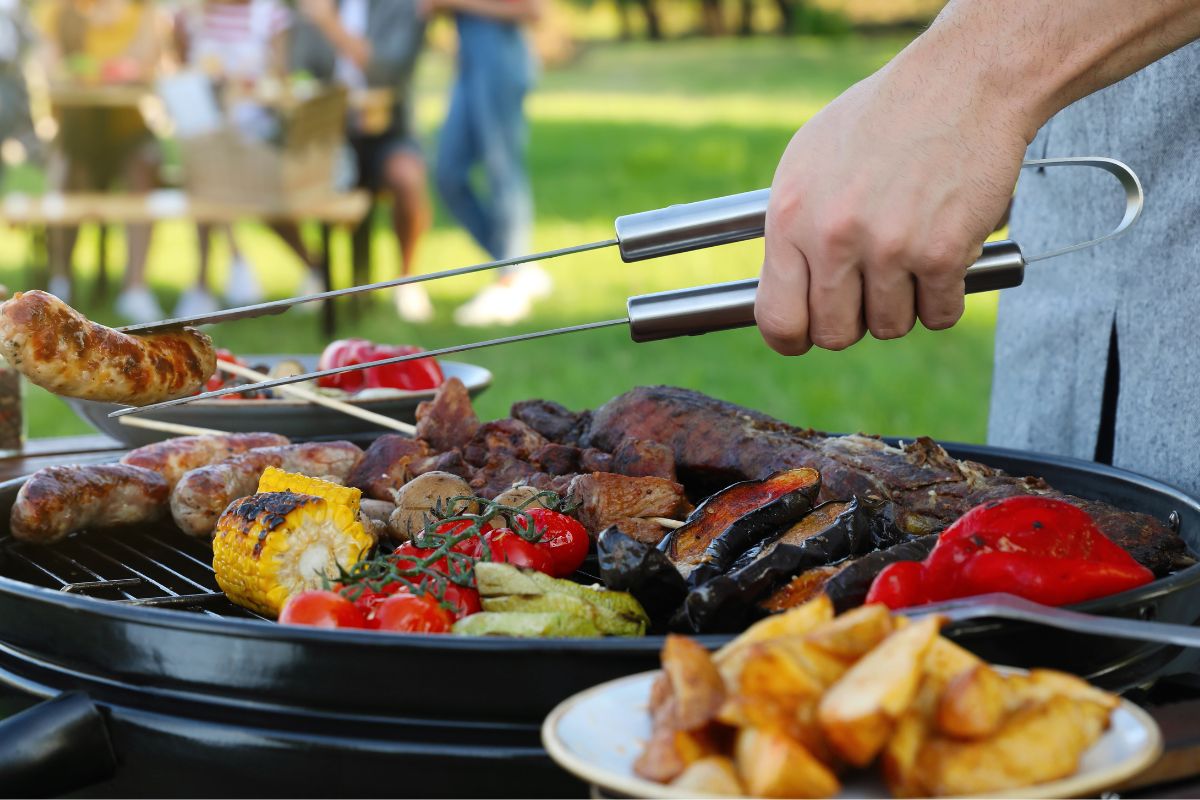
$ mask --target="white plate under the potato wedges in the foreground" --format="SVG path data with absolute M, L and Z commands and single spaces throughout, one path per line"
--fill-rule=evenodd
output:
M 630 798 L 689 798 L 634 774 L 634 762 L 650 735 L 647 700 L 658 672 L 600 684 L 563 700 L 541 727 L 541 741 L 559 766 L 605 793 Z M 1097 795 L 1136 775 L 1163 751 L 1158 726 L 1140 708 L 1122 700 L 1112 723 L 1084 753 L 1070 777 L 1016 790 L 978 796 L 1078 798 Z M 842 784 L 841 798 L 888 796 L 878 770 L 859 770 Z

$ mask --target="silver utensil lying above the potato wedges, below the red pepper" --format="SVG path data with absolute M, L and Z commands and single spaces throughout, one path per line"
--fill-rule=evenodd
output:
M 1046 625 L 1074 633 L 1138 639 L 1158 644 L 1176 644 L 1182 648 L 1200 648 L 1200 627 L 1174 622 L 1151 622 L 1120 616 L 1094 616 L 1066 608 L 1043 606 L 1015 595 L 994 594 L 931 603 L 901 612 L 908 616 L 942 614 L 950 621 L 973 619 L 1010 619 L 1021 622 Z

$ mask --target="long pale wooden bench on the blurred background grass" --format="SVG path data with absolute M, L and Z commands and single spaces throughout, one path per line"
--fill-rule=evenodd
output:
M 23 194 L 8 194 L 0 204 L 0 219 L 11 225 L 22 225 L 30 229 L 46 229 L 55 227 L 77 227 L 85 223 L 95 223 L 101 229 L 109 223 L 138 224 L 166 222 L 170 219 L 186 219 L 203 223 L 234 223 L 241 219 L 262 219 L 265 222 L 293 222 L 316 221 L 322 224 L 319 269 L 324 284 L 332 288 L 330 276 L 330 228 L 342 228 L 356 231 L 362 228 L 362 222 L 371 210 L 371 196 L 368 192 L 355 191 L 343 193 L 330 193 L 323 197 L 307 198 L 295 204 L 278 209 L 242 207 L 238 205 L 196 200 L 184 192 L 162 191 L 149 194 L 127 193 L 83 193 L 72 192 L 68 194 L 44 194 L 30 197 Z M 358 278 L 358 264 L 355 240 L 350 237 L 350 258 L 355 263 L 354 273 Z M 106 251 L 100 247 L 100 264 L 96 281 L 96 300 L 107 293 L 108 270 Z M 29 285 L 40 283 L 34 273 L 34 261 L 30 259 Z M 337 329 L 335 303 L 323 303 L 322 329 L 328 338 L 332 338 Z

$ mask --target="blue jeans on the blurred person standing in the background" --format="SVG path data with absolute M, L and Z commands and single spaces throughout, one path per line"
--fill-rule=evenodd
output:
M 517 25 L 458 14 L 458 78 L 438 142 L 434 181 L 450 213 L 493 259 L 529 249 L 524 96 L 533 60 Z M 486 182 L 470 184 L 479 164 Z

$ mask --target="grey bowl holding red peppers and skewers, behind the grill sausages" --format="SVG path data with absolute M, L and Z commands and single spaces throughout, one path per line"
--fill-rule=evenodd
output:
M 316 355 L 250 355 L 246 360 L 253 365 L 274 365 L 277 361 L 292 359 L 304 365 L 306 371 L 317 368 Z M 492 383 L 492 373 L 484 367 L 458 361 L 438 361 L 446 378 L 458 378 L 472 397 L 478 396 Z M 416 420 L 416 405 L 431 399 L 436 390 L 404 392 L 395 397 L 376 399 L 354 399 L 342 397 L 352 405 L 390 416 L 402 422 Z M 115 403 L 97 403 L 95 401 L 62 398 L 82 420 L 103 434 L 131 447 L 140 447 L 154 441 L 169 439 L 170 433 L 146 431 L 122 425 L 120 419 L 108 415 L 124 408 Z M 262 431 L 278 433 L 286 437 L 328 438 L 360 433 L 383 432 L 378 425 L 348 416 L 331 408 L 314 405 L 294 398 L 276 399 L 210 399 L 196 401 L 184 405 L 173 405 L 143 415 L 143 419 L 175 425 L 190 425 L 198 428 L 211 428 L 226 433 L 244 433 Z

